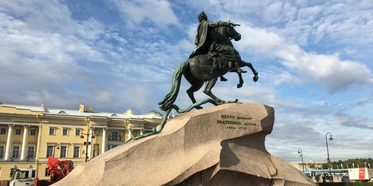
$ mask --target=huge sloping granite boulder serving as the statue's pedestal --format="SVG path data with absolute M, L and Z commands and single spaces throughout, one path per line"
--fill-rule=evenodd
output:
M 113 148 L 53 186 L 311 186 L 264 146 L 274 110 L 229 103 L 180 114 L 159 134 Z

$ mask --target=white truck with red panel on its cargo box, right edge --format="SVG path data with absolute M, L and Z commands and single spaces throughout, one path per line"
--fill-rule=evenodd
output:
M 342 177 L 342 182 L 373 182 L 373 168 L 348 169 L 348 174 Z

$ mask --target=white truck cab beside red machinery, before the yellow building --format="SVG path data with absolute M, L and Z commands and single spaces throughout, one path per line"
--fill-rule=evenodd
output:
M 34 186 L 36 169 L 15 169 L 12 171 L 9 186 Z

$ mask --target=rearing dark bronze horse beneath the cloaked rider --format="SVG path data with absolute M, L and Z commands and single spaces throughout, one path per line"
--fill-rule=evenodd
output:
M 241 39 L 241 35 L 238 32 L 236 32 L 233 26 L 221 26 L 219 27 L 217 33 L 217 35 L 219 36 L 219 43 L 224 45 L 230 45 L 231 47 L 233 47 L 231 39 L 234 38 L 236 41 Z M 258 73 L 255 71 L 251 63 L 242 61 L 237 51 L 236 56 L 239 66 L 250 67 L 254 74 L 253 80 L 257 81 Z M 196 103 L 196 100 L 194 98 L 194 92 L 200 90 L 204 82 L 206 82 L 206 86 L 203 89 L 203 92 L 205 94 L 210 96 L 218 104 L 227 103 L 224 100 L 221 100 L 218 97 L 216 97 L 211 92 L 211 89 L 215 86 L 218 77 L 221 77 L 222 81 L 226 81 L 226 79 L 222 77 L 224 74 L 228 72 L 237 72 L 237 69 L 234 67 L 234 65 L 229 63 L 229 61 L 217 57 L 214 64 L 212 56 L 210 54 L 197 55 L 185 62 L 180 63 L 179 66 L 176 68 L 175 73 L 173 74 L 172 84 L 169 93 L 166 96 L 164 96 L 161 102 L 158 103 L 160 105 L 159 108 L 164 111 L 169 110 L 171 108 L 172 104 L 176 100 L 176 97 L 178 96 L 182 75 L 184 75 L 185 79 L 191 84 L 191 87 L 188 90 L 186 90 L 186 93 L 188 93 L 188 96 L 193 103 Z M 211 73 L 211 69 L 213 68 L 216 68 L 215 73 Z M 240 83 L 237 85 L 237 87 L 239 88 L 242 87 L 243 80 L 241 73 L 238 73 L 238 76 L 240 79 Z M 238 100 L 236 99 L 235 101 L 228 101 L 228 103 L 237 101 Z M 201 106 L 197 106 L 196 108 L 202 109 Z

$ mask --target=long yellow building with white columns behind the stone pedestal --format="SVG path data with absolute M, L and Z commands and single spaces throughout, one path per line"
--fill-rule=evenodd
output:
M 79 165 L 86 153 L 89 161 L 129 137 L 150 132 L 162 119 L 155 110 L 133 115 L 132 109 L 125 113 L 93 112 L 83 103 L 79 110 L 45 108 L 43 103 L 0 103 L 0 180 L 10 180 L 11 169 L 25 168 L 37 169 L 40 179 L 49 179 L 48 156 Z

